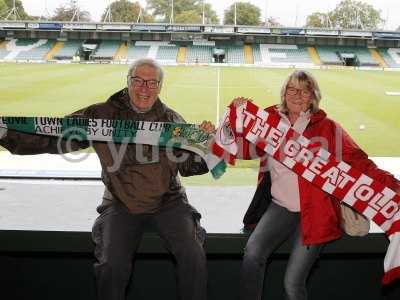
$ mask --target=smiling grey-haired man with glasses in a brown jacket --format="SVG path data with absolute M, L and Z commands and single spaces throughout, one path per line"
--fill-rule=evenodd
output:
M 184 123 L 158 97 L 163 77 L 156 61 L 139 59 L 129 68 L 127 88 L 73 116 Z M 204 121 L 200 127 L 207 133 L 215 130 L 211 122 Z M 12 130 L 0 135 L 0 145 L 15 154 L 59 153 L 89 146 L 74 142 L 67 151 L 50 137 Z M 205 162 L 193 153 L 147 145 L 94 142 L 93 147 L 105 184 L 103 203 L 97 209 L 100 215 L 92 230 L 98 299 L 126 298 L 132 262 L 147 224 L 154 227 L 176 259 L 180 299 L 206 299 L 205 232 L 199 224 L 200 214 L 188 204 L 178 177 L 178 173 L 207 173 Z

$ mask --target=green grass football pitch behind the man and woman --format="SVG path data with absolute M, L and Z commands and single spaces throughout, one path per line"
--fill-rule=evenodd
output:
M 0 115 L 63 116 L 123 88 L 126 71 L 126 65 L 0 64 Z M 165 72 L 161 92 L 165 103 L 188 122 L 216 121 L 217 67 L 165 67 Z M 252 97 L 260 107 L 278 103 L 281 85 L 292 70 L 221 67 L 219 72 L 221 116 L 236 96 Z M 400 91 L 400 72 L 311 72 L 321 87 L 321 107 L 370 156 L 400 156 L 400 97 L 385 95 Z M 359 129 L 360 124 L 365 130 Z M 243 175 L 256 173 L 249 172 Z

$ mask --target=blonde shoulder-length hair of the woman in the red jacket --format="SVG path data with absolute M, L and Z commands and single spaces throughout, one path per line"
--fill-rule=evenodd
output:
M 319 110 L 319 103 L 322 98 L 321 90 L 319 89 L 318 82 L 314 76 L 304 70 L 296 70 L 286 79 L 281 89 L 281 103 L 279 105 L 279 110 L 283 113 L 288 112 L 285 94 L 290 83 L 302 84 L 313 93 L 313 100 L 311 102 L 310 110 L 312 113 L 317 112 Z

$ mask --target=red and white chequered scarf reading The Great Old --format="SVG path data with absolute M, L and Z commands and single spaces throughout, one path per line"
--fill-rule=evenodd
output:
M 311 145 L 308 138 L 295 132 L 279 116 L 251 102 L 228 108 L 217 130 L 214 154 L 234 163 L 239 150 L 238 134 L 380 226 L 390 240 L 382 282 L 389 284 L 400 278 L 399 195 L 349 164 L 336 160 L 334 154 L 322 147 L 316 149 L 315 144 Z

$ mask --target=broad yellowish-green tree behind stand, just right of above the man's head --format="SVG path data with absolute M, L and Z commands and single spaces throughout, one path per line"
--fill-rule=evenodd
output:
M 172 0 L 148 0 L 147 3 L 158 21 L 170 21 Z M 174 22 L 190 24 L 203 22 L 203 0 L 173 0 L 173 3 Z M 205 23 L 218 23 L 217 13 L 209 3 L 204 3 L 204 16 Z

